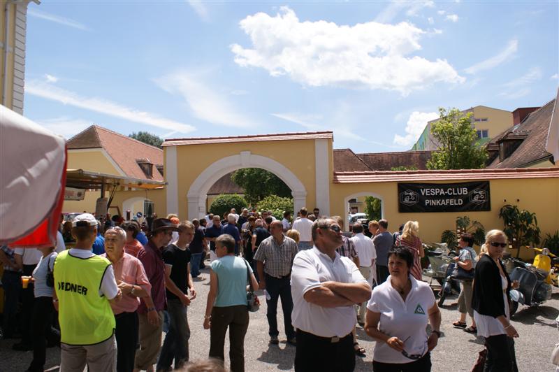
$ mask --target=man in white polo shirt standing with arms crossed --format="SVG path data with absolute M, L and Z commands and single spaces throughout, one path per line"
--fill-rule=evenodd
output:
M 296 255 L 291 271 L 295 371 L 353 371 L 353 306 L 370 298 L 371 287 L 351 259 L 337 254 L 342 245 L 337 222 L 319 219 L 311 234 L 313 248 Z

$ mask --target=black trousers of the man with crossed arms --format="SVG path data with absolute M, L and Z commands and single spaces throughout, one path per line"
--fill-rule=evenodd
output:
M 297 330 L 296 372 L 351 372 L 355 369 L 354 338 L 351 332 L 336 343 Z

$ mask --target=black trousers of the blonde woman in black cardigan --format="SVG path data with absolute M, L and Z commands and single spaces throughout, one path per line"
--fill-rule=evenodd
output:
M 487 358 L 484 372 L 518 372 L 514 340 L 506 334 L 486 337 Z

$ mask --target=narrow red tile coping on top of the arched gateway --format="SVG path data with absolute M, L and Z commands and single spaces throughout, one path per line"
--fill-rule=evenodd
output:
M 278 134 L 255 134 L 251 136 L 226 136 L 226 137 L 197 137 L 197 138 L 173 138 L 165 140 L 164 146 L 178 145 L 203 145 L 208 143 L 230 143 L 230 142 L 259 142 L 259 141 L 293 141 L 320 138 L 334 138 L 332 131 L 314 131 L 305 133 L 278 133 Z

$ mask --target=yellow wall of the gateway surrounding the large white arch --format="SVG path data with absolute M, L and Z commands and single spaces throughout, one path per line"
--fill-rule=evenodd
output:
M 329 142 L 329 183 L 333 178 L 332 141 Z M 166 148 L 164 148 L 166 149 Z M 208 166 L 217 160 L 249 151 L 252 155 L 269 157 L 288 168 L 307 190 L 307 208 L 314 208 L 316 201 L 314 180 L 314 139 L 296 141 L 261 141 L 246 143 L 210 143 L 177 146 L 178 214 L 188 216 L 187 194 L 191 184 Z M 166 151 L 165 151 L 166 154 Z M 200 157 L 204 154 L 204 157 Z M 166 172 L 167 173 L 167 172 Z

